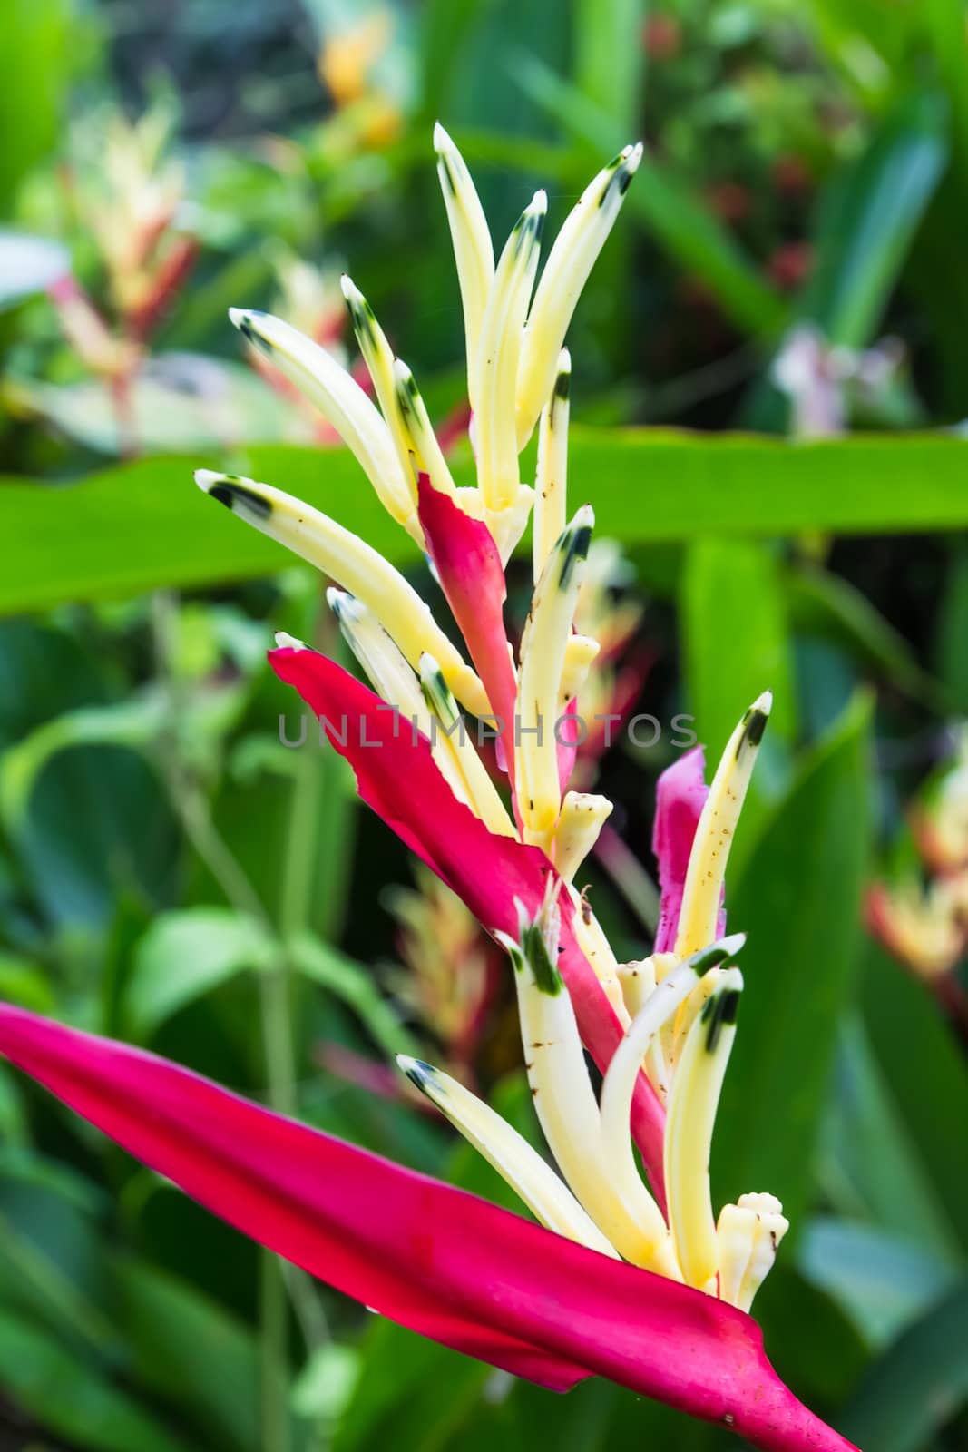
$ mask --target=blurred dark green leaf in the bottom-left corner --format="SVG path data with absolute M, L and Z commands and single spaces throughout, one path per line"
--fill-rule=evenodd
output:
M 46 1331 L 0 1311 L 0 1382 L 39 1426 L 93 1452 L 187 1452 L 106 1376 L 78 1362 Z

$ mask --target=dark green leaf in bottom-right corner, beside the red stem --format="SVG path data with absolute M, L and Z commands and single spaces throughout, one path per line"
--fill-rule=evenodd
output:
M 920 1452 L 968 1398 L 968 1281 L 875 1362 L 839 1419 L 877 1452 Z

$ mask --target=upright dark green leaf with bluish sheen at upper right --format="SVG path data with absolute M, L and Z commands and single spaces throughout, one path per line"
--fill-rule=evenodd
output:
M 964 46 L 962 46 L 964 48 Z M 823 195 L 817 261 L 798 306 L 832 343 L 866 347 L 948 160 L 946 115 L 932 93 L 906 97 Z

